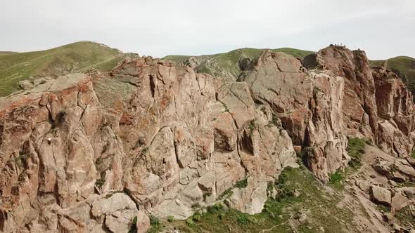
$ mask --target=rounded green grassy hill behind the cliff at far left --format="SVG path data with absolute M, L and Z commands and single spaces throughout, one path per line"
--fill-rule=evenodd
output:
M 3 54 L 3 55 L 1 55 Z M 0 96 L 18 90 L 18 81 L 41 76 L 60 76 L 89 68 L 112 69 L 122 60 L 122 52 L 102 44 L 81 41 L 28 53 L 0 52 Z

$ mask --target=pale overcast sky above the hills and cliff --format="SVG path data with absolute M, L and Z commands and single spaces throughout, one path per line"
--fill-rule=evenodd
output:
M 97 41 L 162 57 L 329 44 L 415 57 L 415 0 L 0 1 L 0 51 Z

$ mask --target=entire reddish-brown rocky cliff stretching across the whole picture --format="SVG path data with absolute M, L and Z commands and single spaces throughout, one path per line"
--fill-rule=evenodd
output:
M 260 213 L 295 150 L 324 182 L 350 135 L 407 157 L 413 109 L 400 79 L 338 46 L 263 52 L 236 81 L 151 57 L 48 80 L 0 99 L 0 229 L 125 232 L 138 215 L 143 231 L 218 199 Z

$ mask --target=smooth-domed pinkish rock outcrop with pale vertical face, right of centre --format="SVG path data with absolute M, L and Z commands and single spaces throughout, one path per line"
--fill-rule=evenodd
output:
M 239 76 L 257 102 L 269 105 L 295 145 L 304 147 L 309 168 L 321 180 L 347 165 L 343 129 L 344 79 L 307 72 L 285 53 L 264 52 Z

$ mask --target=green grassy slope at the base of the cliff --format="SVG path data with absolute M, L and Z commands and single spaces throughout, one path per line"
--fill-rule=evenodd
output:
M 174 227 L 179 232 L 353 232 L 354 216 L 364 215 L 357 201 L 325 187 L 304 166 L 286 168 L 275 187 L 279 196 L 269 198 L 262 213 L 248 215 L 216 204 L 186 221 L 164 221 L 164 227 L 151 232 Z

